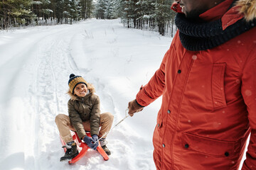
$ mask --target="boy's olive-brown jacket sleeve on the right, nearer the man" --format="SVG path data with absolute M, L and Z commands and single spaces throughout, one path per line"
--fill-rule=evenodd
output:
M 90 113 L 90 134 L 98 135 L 100 128 L 100 98 L 97 96 Z

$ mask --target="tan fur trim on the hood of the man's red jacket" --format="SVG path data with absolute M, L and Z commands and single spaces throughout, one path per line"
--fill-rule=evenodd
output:
M 246 21 L 256 19 L 256 1 L 255 0 L 238 0 L 236 6 L 241 6 L 239 12 L 242 13 Z

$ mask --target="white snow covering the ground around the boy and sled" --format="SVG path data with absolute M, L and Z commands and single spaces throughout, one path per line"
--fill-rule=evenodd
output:
M 110 132 L 107 162 L 92 149 L 73 165 L 59 162 L 54 120 L 68 115 L 73 73 L 94 84 L 115 125 L 169 45 L 171 38 L 124 28 L 119 19 L 0 31 L 0 169 L 156 169 L 151 139 L 161 98 Z

